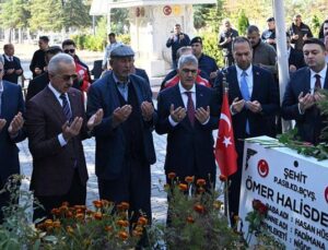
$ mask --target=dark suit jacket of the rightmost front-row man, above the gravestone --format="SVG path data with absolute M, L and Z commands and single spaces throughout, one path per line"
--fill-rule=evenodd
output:
M 292 74 L 289 84 L 286 85 L 283 100 L 282 100 L 282 117 L 286 120 L 296 120 L 296 128 L 301 140 L 312 143 L 319 142 L 319 134 L 324 128 L 323 120 L 326 121 L 327 116 L 319 115 L 317 107 L 314 106 L 305 110 L 304 115 L 300 115 L 298 111 L 298 95 L 301 92 L 305 95 L 311 91 L 311 71 L 309 68 L 302 68 Z M 328 73 L 324 88 L 328 88 Z

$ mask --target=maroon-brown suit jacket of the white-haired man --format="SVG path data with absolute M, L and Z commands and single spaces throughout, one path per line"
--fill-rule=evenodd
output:
M 62 132 L 66 117 L 62 107 L 49 87 L 34 96 L 26 105 L 28 147 L 33 156 L 31 190 L 36 195 L 63 195 L 71 186 L 74 166 L 82 184 L 86 184 L 87 171 L 82 140 L 86 138 L 85 112 L 81 92 L 68 92 L 73 118 L 82 117 L 84 126 L 78 136 L 61 146 L 58 134 Z

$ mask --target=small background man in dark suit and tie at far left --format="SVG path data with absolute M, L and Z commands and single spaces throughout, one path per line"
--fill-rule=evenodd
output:
M 12 44 L 4 45 L 3 51 L 4 75 L 2 79 L 11 83 L 17 83 L 19 76 L 23 74 L 21 60 L 14 56 L 15 49 Z

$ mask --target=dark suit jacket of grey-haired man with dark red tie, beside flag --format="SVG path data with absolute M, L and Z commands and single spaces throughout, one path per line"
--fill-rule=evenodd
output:
M 173 127 L 169 123 L 169 108 L 184 107 L 179 85 L 166 88 L 159 95 L 159 121 L 156 132 L 167 133 L 165 171 L 174 171 L 179 178 L 197 176 L 208 179 L 209 174 L 215 178 L 215 162 L 212 130 L 218 129 L 220 107 L 214 99 L 214 92 L 206 86 L 196 85 L 196 108 L 210 106 L 211 116 L 207 124 L 201 124 L 196 119 L 194 128 L 188 116 Z M 197 170 L 196 170 L 197 169 Z

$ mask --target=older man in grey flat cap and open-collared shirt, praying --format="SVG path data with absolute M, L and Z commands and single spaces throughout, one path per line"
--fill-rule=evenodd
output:
M 104 110 L 102 123 L 95 127 L 95 170 L 101 199 L 116 204 L 128 202 L 136 222 L 140 211 L 151 221 L 151 174 L 155 151 L 152 130 L 156 112 L 150 85 L 130 70 L 133 50 L 120 45 L 112 50 L 112 72 L 91 85 L 87 116 Z

